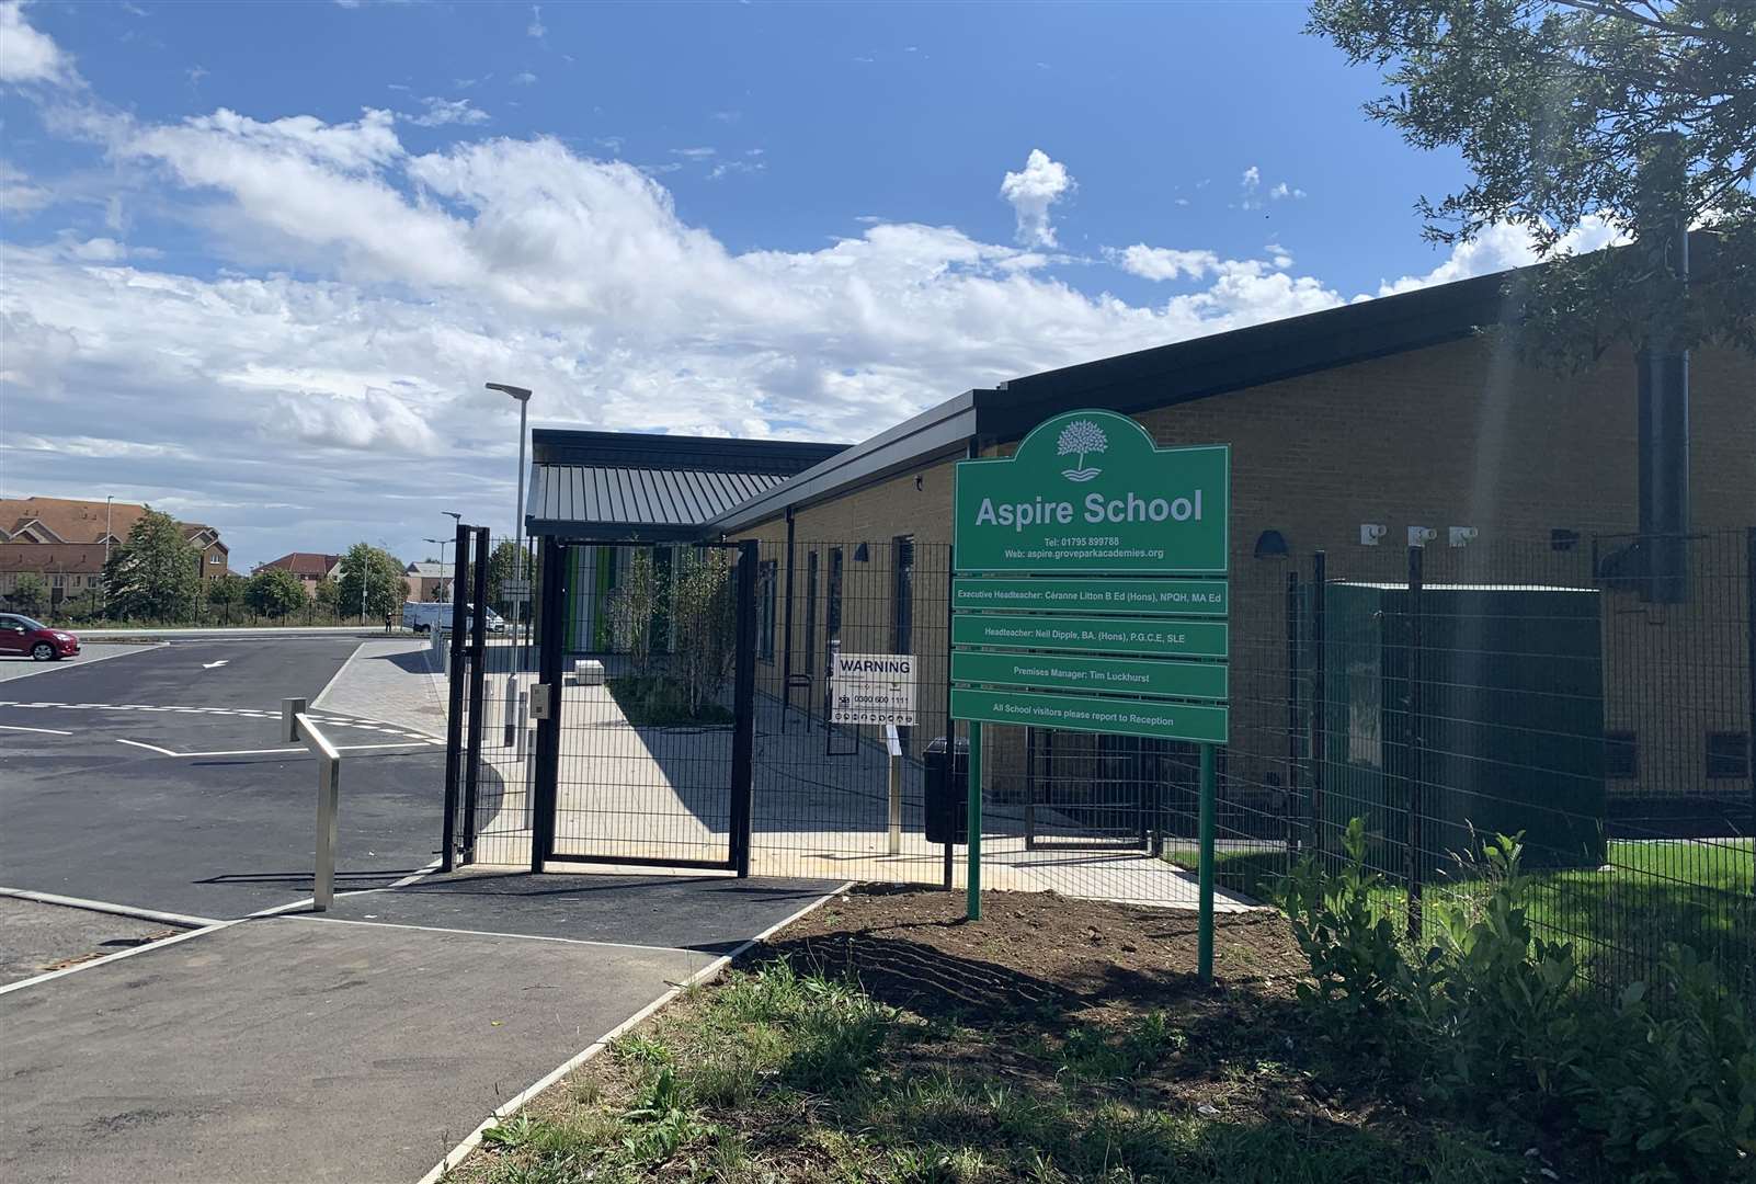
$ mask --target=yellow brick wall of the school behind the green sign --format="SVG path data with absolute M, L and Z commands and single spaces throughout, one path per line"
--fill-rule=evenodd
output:
M 1559 571 L 1589 580 L 1591 536 L 1631 532 L 1637 523 L 1635 402 L 1628 353 L 1608 355 L 1589 374 L 1563 378 L 1519 364 L 1503 339 L 1484 336 L 1138 415 L 1161 444 L 1233 446 L 1229 775 L 1273 785 L 1285 771 L 1289 566 L 1308 573 L 1310 553 L 1322 548 L 1331 578 L 1400 580 L 1405 529 L 1428 525 L 1438 531 L 1428 552 L 1429 581 L 1494 573 L 1500 581 L 1533 583 Z M 1756 525 L 1756 360 L 1735 350 L 1696 351 L 1691 437 L 1695 529 Z M 987 451 L 1006 455 L 1013 446 Z M 913 534 L 922 566 L 915 580 L 922 708 L 938 726 L 945 680 L 939 555 L 950 543 L 950 499 L 952 462 L 938 462 L 795 511 L 795 669 L 802 669 L 804 650 L 806 545 L 846 550 L 845 645 L 882 650 L 890 613 L 890 539 Z M 1389 527 L 1378 548 L 1359 545 L 1359 525 L 1368 522 Z M 1450 525 L 1475 527 L 1477 541 L 1449 552 Z M 1292 560 L 1252 557 L 1257 536 L 1268 529 L 1285 538 Z M 1552 529 L 1577 531 L 1580 553 L 1552 553 Z M 762 523 L 745 538 L 764 541 L 764 557 L 778 560 L 783 588 L 785 520 Z M 869 564 L 852 560 L 860 541 L 869 546 Z M 827 555 L 820 562 L 827 583 Z M 1637 731 L 1644 752 L 1654 762 L 1663 757 L 1682 780 L 1698 768 L 1707 731 L 1749 726 L 1742 690 L 1747 668 L 1735 620 L 1742 596 L 1742 573 L 1724 571 L 1696 580 L 1695 599 L 1684 606 L 1644 606 L 1623 592 L 1603 597 L 1607 727 Z M 1630 625 L 1635 617 L 1638 631 Z M 783 620 L 785 606 L 778 604 L 778 631 Z M 822 624 L 820 606 L 818 629 Z M 1677 694 L 1630 685 L 1637 671 L 1654 668 L 1673 671 Z M 767 694 L 780 694 L 780 653 L 773 668 L 759 669 Z M 1022 745 L 997 740 L 990 766 L 996 785 L 1004 789 L 1022 773 Z M 1630 791 L 1635 783 L 1612 789 Z M 1710 789 L 1731 792 L 1735 783 Z

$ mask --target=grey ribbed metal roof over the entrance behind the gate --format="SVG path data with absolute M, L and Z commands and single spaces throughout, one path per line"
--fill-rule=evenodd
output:
M 660 541 L 699 538 L 846 444 L 537 429 L 530 448 L 530 534 Z

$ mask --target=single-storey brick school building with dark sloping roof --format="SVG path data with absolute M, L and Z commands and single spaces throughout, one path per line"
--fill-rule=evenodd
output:
M 1689 534 L 1680 567 L 1663 576 L 1672 583 L 1654 592 L 1640 538 L 1651 460 L 1637 358 L 1612 350 L 1579 374 L 1522 360 L 1507 281 L 1465 279 L 968 390 L 852 446 L 539 430 L 529 529 L 602 545 L 574 553 L 590 571 L 569 585 L 599 594 L 569 608 L 574 653 L 613 648 L 590 613 L 636 548 L 757 541 L 759 696 L 813 720 L 832 646 L 913 653 L 920 722 L 904 740 L 918 755 L 950 731 L 954 466 L 1010 455 L 1054 415 L 1108 409 L 1159 446 L 1231 446 L 1224 775 L 1241 815 L 1292 810 L 1319 747 L 1340 743 L 1370 766 L 1394 743 L 1382 718 L 1356 706 L 1338 720 L 1328 704 L 1359 671 L 1322 671 L 1313 708 L 1322 659 L 1310 588 L 1407 588 L 1410 564 L 1438 592 L 1579 594 L 1598 624 L 1593 652 L 1575 657 L 1601 699 L 1601 715 L 1587 713 L 1601 736 L 1584 738 L 1586 775 L 1624 815 L 1663 813 L 1663 799 L 1747 815 L 1756 358 L 1723 346 L 1688 360 Z M 1542 632 L 1522 631 L 1535 638 L 1524 668 L 1544 664 Z M 1526 748 L 1540 752 L 1545 724 L 1529 727 Z M 1055 761 L 1085 782 L 1140 782 L 1162 776 L 1155 754 L 1177 755 L 1175 745 L 1003 731 L 1015 734 L 990 748 L 997 799 L 1038 792 Z

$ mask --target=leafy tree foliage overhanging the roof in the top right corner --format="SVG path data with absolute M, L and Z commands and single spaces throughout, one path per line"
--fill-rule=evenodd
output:
M 1617 343 L 1756 351 L 1756 4 L 1728 0 L 1313 0 L 1310 30 L 1389 93 L 1366 112 L 1473 179 L 1421 199 L 1428 237 L 1531 232 L 1528 355 L 1580 367 Z M 1587 218 L 1633 239 L 1570 255 Z M 1686 283 L 1665 253 L 1695 227 Z

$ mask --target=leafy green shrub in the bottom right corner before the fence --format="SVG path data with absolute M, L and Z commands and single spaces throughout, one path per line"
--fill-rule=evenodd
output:
M 1714 964 L 1672 945 L 1661 1001 L 1633 984 L 1614 1003 L 1580 989 L 1573 947 L 1538 938 L 1522 845 L 1482 843 L 1475 887 L 1428 910 L 1436 940 L 1401 947 L 1371 903 L 1364 824 L 1347 863 L 1306 857 L 1280 894 L 1312 984 L 1299 998 L 1356 1042 L 1417 1054 L 1435 1100 L 1589 1131 L 1628 1184 L 1742 1180 L 1756 1170 L 1756 1026 Z

